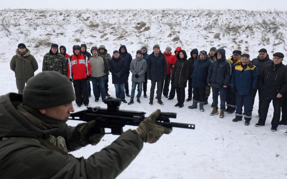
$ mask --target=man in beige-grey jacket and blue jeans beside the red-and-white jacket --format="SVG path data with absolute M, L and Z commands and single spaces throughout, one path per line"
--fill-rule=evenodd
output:
M 103 58 L 102 55 L 98 54 L 98 48 L 91 48 L 92 56 L 89 57 L 91 64 L 91 81 L 93 85 L 93 93 L 95 96 L 95 101 L 99 101 L 99 93 L 97 86 L 99 84 L 102 101 L 106 98 L 106 89 L 105 89 L 105 75 L 108 73 L 108 64 L 107 61 Z

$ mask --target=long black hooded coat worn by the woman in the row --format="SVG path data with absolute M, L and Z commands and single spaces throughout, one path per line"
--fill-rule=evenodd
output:
M 184 53 L 184 58 L 179 57 L 179 53 Z M 180 50 L 176 55 L 174 68 L 171 75 L 172 86 L 185 88 L 186 82 L 189 79 L 190 63 L 187 60 L 187 55 L 184 50 Z

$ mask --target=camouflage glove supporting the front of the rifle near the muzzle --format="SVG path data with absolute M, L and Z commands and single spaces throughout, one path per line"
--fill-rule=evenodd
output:
M 172 128 L 167 128 L 155 124 L 156 118 L 160 115 L 161 110 L 157 109 L 149 117 L 140 123 L 136 131 L 144 142 L 155 143 L 163 134 L 172 132 Z

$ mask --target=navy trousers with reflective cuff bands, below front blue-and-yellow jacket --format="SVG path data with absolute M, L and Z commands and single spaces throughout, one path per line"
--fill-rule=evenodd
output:
M 242 119 L 242 107 L 244 106 L 245 121 L 250 121 L 252 117 L 252 95 L 236 95 L 235 117 Z

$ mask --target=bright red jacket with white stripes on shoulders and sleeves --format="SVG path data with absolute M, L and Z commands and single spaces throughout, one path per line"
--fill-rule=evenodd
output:
M 74 50 L 73 50 L 74 53 Z M 79 80 L 91 75 L 91 65 L 88 57 L 82 53 L 73 54 L 68 61 L 68 78 Z

